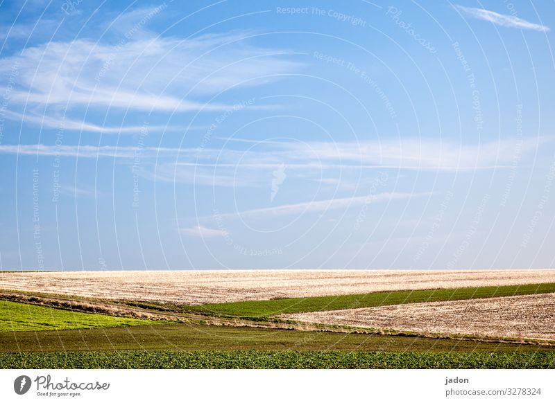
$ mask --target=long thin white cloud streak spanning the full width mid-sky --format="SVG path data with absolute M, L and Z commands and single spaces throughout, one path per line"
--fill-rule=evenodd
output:
M 138 128 L 138 127 L 137 127 Z M 276 142 L 253 150 L 236 150 L 230 148 L 198 148 L 198 147 L 141 147 L 144 156 L 179 156 L 173 169 L 197 168 L 206 172 L 214 168 L 236 171 L 237 168 L 247 170 L 275 170 L 282 163 L 288 169 L 296 170 L 350 170 L 350 169 L 383 169 L 395 170 L 475 170 L 507 168 L 513 161 L 515 150 L 529 154 L 542 145 L 555 142 L 555 136 L 526 138 L 517 145 L 517 139 L 505 138 L 501 141 L 490 141 L 474 145 L 459 145 L 452 141 L 424 140 L 418 138 L 402 138 L 396 140 L 365 141 L 365 142 L 307 142 L 299 145 L 296 142 Z M 132 157 L 137 147 L 130 146 L 96 146 L 96 145 L 44 145 L 21 144 L 0 145 L 3 154 L 38 154 L 39 156 L 96 157 L 112 156 L 119 158 Z M 200 172 L 200 171 L 199 171 Z

